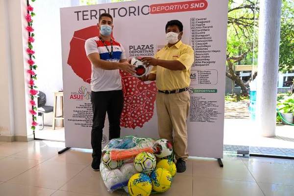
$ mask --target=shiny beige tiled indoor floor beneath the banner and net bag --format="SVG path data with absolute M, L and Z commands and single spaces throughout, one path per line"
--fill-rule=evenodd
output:
M 63 142 L 0 142 L 0 196 L 126 196 L 109 194 L 90 167 L 91 150 Z M 157 196 L 294 196 L 294 160 L 191 157 L 169 191 Z

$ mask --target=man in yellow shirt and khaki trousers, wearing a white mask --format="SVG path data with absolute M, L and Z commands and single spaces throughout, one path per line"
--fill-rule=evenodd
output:
M 158 88 L 156 110 L 160 138 L 173 143 L 177 172 L 186 170 L 188 159 L 187 117 L 190 107 L 190 71 L 194 62 L 193 49 L 181 41 L 183 25 L 178 20 L 166 25 L 167 45 L 153 57 L 143 57 L 153 65 L 142 81 L 155 81 Z

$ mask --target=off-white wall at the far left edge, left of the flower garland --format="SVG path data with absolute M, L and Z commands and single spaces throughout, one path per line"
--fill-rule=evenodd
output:
M 28 99 L 24 59 L 27 32 L 23 19 L 26 0 L 0 0 L 0 134 L 2 136 L 29 136 L 30 118 L 26 108 Z

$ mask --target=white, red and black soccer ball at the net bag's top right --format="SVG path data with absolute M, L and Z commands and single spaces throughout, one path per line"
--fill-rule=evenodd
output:
M 154 155 L 164 158 L 172 155 L 172 142 L 166 139 L 156 140 L 153 144 Z

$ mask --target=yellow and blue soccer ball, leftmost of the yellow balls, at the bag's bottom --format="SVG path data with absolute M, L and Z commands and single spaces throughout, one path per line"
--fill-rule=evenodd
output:
M 127 183 L 130 196 L 149 196 L 152 191 L 150 178 L 145 173 L 134 174 Z

